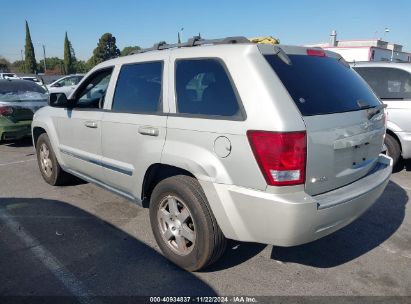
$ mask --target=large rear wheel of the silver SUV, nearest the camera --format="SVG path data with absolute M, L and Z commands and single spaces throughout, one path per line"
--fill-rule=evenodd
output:
M 211 265 L 225 251 L 227 240 L 193 177 L 177 175 L 157 184 L 150 200 L 150 222 L 164 256 L 188 271 Z

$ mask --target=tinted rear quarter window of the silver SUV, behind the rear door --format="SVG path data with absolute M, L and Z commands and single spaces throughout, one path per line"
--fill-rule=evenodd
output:
M 242 118 L 230 78 L 217 59 L 178 60 L 176 95 L 178 113 Z

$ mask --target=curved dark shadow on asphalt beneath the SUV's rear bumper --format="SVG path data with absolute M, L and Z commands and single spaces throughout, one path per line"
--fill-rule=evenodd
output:
M 404 220 L 407 202 L 406 191 L 390 181 L 379 200 L 350 225 L 312 243 L 295 247 L 274 246 L 271 258 L 319 268 L 347 263 L 376 248 L 395 233 Z

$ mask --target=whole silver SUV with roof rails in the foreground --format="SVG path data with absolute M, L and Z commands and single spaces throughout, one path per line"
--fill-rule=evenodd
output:
M 339 55 L 241 38 L 153 49 L 51 94 L 33 142 L 49 184 L 71 174 L 149 207 L 177 265 L 210 265 L 227 238 L 313 241 L 384 191 L 383 105 Z

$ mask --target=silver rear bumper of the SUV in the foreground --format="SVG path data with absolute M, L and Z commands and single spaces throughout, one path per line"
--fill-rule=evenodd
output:
M 317 196 L 304 191 L 272 194 L 209 182 L 201 184 L 226 237 L 294 246 L 319 239 L 358 218 L 382 194 L 391 171 L 391 158 L 380 155 L 367 176 Z

